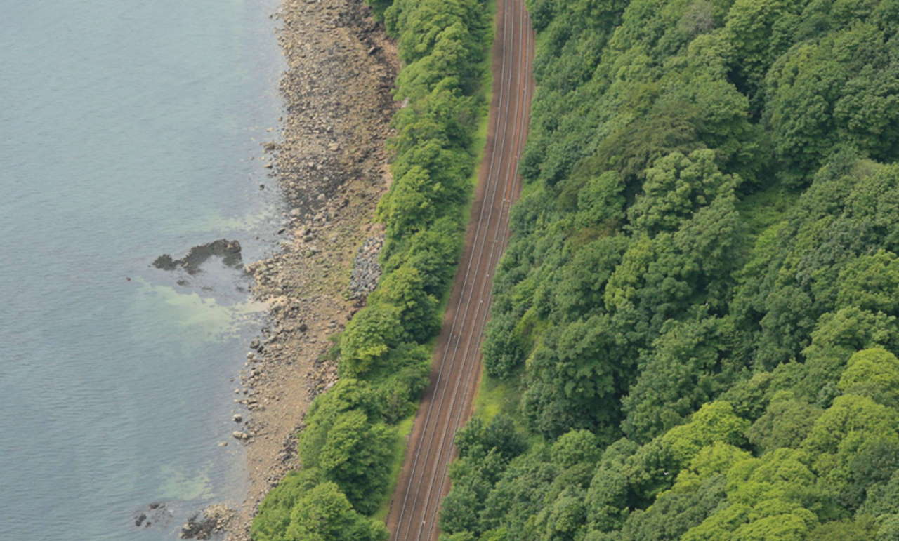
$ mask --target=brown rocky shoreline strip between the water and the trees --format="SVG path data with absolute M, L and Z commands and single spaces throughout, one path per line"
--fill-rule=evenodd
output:
M 297 468 L 295 434 L 312 398 L 334 384 L 328 338 L 362 306 L 380 275 L 375 206 L 387 190 L 385 142 L 396 111 L 396 50 L 364 0 L 284 0 L 275 16 L 288 69 L 280 141 L 263 165 L 289 211 L 280 253 L 246 265 L 269 321 L 251 343 L 235 389 L 237 442 L 249 487 L 227 538 L 249 539 L 269 489 Z

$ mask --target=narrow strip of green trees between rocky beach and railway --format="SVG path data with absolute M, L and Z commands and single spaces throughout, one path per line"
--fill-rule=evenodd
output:
M 405 447 L 396 424 L 414 414 L 428 383 L 427 344 L 461 251 L 492 17 L 482 0 L 370 4 L 398 44 L 395 97 L 407 101 L 394 119 L 394 181 L 378 205 L 384 273 L 337 340 L 340 380 L 309 408 L 302 470 L 265 498 L 254 541 L 387 539 L 371 516 L 387 501 Z

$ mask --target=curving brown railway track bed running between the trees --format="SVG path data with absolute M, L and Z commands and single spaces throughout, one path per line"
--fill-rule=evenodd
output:
M 534 35 L 523 0 L 497 0 L 494 97 L 484 162 L 465 251 L 422 398 L 387 528 L 396 541 L 438 537 L 441 500 L 449 492 L 452 439 L 471 413 L 481 371 L 481 338 L 490 306 L 491 274 L 509 236 L 509 208 L 521 191 L 518 161 L 527 137 Z

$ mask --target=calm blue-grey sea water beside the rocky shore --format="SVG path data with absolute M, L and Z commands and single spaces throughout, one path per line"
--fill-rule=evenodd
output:
M 218 260 L 150 263 L 277 240 L 276 8 L 0 0 L 0 539 L 173 539 L 242 499 L 231 417 L 262 306 Z

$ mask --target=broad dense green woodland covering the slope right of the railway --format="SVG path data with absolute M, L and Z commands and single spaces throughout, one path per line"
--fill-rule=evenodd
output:
M 529 7 L 443 539 L 899 539 L 899 1 Z

